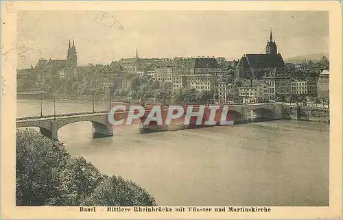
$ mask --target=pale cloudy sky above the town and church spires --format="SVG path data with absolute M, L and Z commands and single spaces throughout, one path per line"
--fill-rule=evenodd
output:
M 66 59 L 75 38 L 78 65 L 141 58 L 265 53 L 270 27 L 283 58 L 329 53 L 329 13 L 320 11 L 21 11 L 18 67 Z

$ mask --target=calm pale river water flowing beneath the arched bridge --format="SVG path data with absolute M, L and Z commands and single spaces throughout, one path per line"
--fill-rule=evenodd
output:
M 54 114 L 43 101 L 43 114 Z M 95 103 L 106 110 L 109 103 Z M 56 101 L 56 113 L 89 112 L 90 101 Z M 17 116 L 40 114 L 40 101 L 17 100 Z M 328 206 L 329 125 L 268 121 L 139 134 L 115 127 L 92 138 L 91 122 L 66 125 L 58 138 L 72 156 L 144 187 L 160 206 Z

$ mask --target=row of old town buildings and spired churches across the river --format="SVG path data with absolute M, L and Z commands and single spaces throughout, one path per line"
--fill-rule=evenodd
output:
M 139 58 L 136 51 L 134 58 L 123 58 L 108 65 L 110 71 L 103 79 L 103 86 L 105 90 L 115 86 L 130 90 L 132 76 L 148 75 L 160 84 L 171 84 L 174 90 L 212 91 L 216 103 L 255 103 L 289 95 L 329 97 L 329 71 L 322 71 L 319 78 L 295 79 L 287 66 L 270 31 L 265 54 L 245 54 L 240 60 L 224 65 L 214 57 Z M 69 40 L 67 60 L 40 59 L 32 66 L 38 81 L 43 81 L 47 75 L 67 77 L 78 70 L 82 70 L 82 66 L 77 66 L 74 40 L 72 44 Z

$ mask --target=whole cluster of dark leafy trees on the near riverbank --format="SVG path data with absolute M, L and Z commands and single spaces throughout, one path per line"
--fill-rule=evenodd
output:
M 107 177 L 62 143 L 32 129 L 16 131 L 16 206 L 155 206 L 144 188 Z

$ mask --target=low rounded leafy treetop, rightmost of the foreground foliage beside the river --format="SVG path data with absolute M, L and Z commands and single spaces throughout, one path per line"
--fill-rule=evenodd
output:
M 100 183 L 82 206 L 156 206 L 156 201 L 134 182 L 112 176 Z

